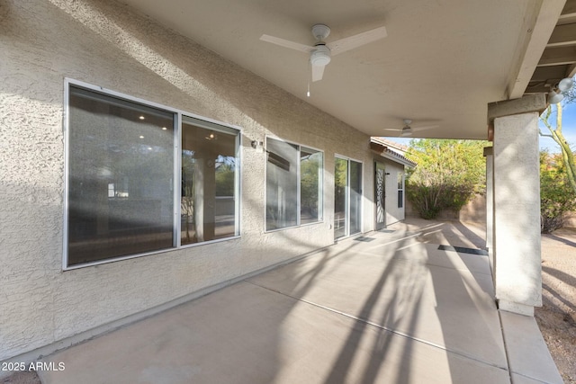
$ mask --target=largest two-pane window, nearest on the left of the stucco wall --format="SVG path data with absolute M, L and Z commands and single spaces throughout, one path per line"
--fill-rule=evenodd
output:
M 64 268 L 238 236 L 237 129 L 89 85 L 67 100 Z

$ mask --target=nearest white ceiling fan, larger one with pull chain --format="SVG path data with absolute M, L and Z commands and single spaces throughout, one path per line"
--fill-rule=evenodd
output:
M 324 68 L 329 64 L 332 56 L 358 48 L 375 40 L 383 39 L 387 36 L 385 27 L 378 27 L 374 30 L 358 33 L 347 38 L 325 42 L 330 34 L 330 28 L 325 24 L 315 24 L 312 26 L 312 35 L 316 39 L 313 46 L 301 44 L 290 40 L 284 40 L 275 36 L 262 35 L 260 40 L 271 42 L 284 48 L 300 50 L 310 53 L 310 63 L 312 67 L 312 81 L 319 81 L 324 75 Z

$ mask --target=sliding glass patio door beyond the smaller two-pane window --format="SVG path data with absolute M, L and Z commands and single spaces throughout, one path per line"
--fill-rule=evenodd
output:
M 336 157 L 334 170 L 334 238 L 362 230 L 362 163 Z

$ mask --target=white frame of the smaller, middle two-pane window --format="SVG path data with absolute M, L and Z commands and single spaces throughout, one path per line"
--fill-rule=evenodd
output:
M 297 153 L 298 153 L 298 161 L 297 161 L 297 171 L 296 171 L 296 180 L 297 180 L 297 185 L 296 185 L 296 224 L 293 226 L 288 226 L 288 227 L 283 227 L 283 228 L 274 228 L 274 229 L 267 229 L 267 214 L 266 214 L 266 209 L 267 209 L 267 196 L 268 196 L 268 158 L 267 158 L 267 147 L 268 147 L 268 140 L 269 139 L 273 139 L 276 141 L 280 141 L 292 146 L 296 146 L 297 148 Z M 317 153 L 322 154 L 322 166 L 320 168 L 321 175 L 320 175 L 320 180 L 318 181 L 319 186 L 320 186 L 320 193 L 319 193 L 319 202 L 318 202 L 318 206 L 319 206 L 319 218 L 317 221 L 312 221 L 309 223 L 304 223 L 302 224 L 302 219 L 301 219 L 301 215 L 302 215 L 302 174 L 301 174 L 301 163 L 302 163 L 302 148 L 305 148 L 307 150 L 311 150 L 311 151 L 315 151 Z M 320 148 L 316 148 L 316 147 L 311 147 L 311 146 L 306 146 L 306 145 L 302 145 L 299 144 L 297 142 L 293 142 L 290 140 L 284 140 L 283 138 L 278 138 L 277 136 L 273 136 L 273 135 L 266 135 L 265 137 L 265 151 L 264 153 L 266 154 L 265 158 L 264 158 L 264 163 L 265 163 L 265 169 L 264 169 L 264 186 L 265 186 L 265 190 L 264 190 L 264 232 L 265 233 L 271 233 L 271 232 L 277 232 L 277 231 L 282 231 L 285 229 L 290 229 L 290 228 L 301 228 L 301 227 L 308 227 L 308 226 L 313 226 L 313 225 L 317 225 L 317 224 L 321 224 L 324 222 L 324 177 L 325 177 L 325 166 L 326 166 L 326 156 L 324 153 L 324 150 L 320 149 Z

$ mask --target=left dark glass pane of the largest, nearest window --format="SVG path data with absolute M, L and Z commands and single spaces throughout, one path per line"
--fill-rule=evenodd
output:
M 68 111 L 68 265 L 174 246 L 174 114 L 74 86 Z

